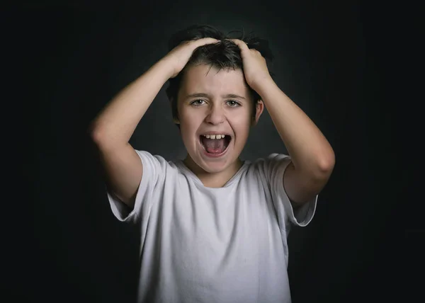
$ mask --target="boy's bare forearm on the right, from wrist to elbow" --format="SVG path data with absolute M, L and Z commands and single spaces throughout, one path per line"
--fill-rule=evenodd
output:
M 334 151 L 314 122 L 278 88 L 272 79 L 256 91 L 261 96 L 296 170 L 310 175 L 328 174 Z

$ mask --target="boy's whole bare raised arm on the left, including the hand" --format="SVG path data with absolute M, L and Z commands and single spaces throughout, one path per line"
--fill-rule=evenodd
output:
M 134 206 L 143 167 L 129 140 L 164 83 L 181 72 L 193 50 L 216 42 L 204 38 L 179 45 L 118 93 L 91 123 L 90 132 L 101 157 L 106 183 L 125 204 Z

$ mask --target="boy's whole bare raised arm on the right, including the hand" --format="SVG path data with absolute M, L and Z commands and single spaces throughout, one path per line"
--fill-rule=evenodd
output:
M 246 82 L 261 96 L 291 156 L 283 186 L 293 205 L 301 205 L 326 185 L 334 169 L 334 151 L 312 120 L 280 91 L 261 53 L 241 40 L 233 41 L 241 49 Z

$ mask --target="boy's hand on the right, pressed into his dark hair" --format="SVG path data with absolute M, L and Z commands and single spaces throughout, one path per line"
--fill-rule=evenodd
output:
M 264 80 L 271 79 L 268 72 L 266 59 L 258 50 L 250 49 L 248 45 L 239 39 L 229 39 L 234 42 L 241 50 L 242 64 L 244 67 L 244 75 L 246 83 L 251 86 L 254 91 L 263 83 Z

